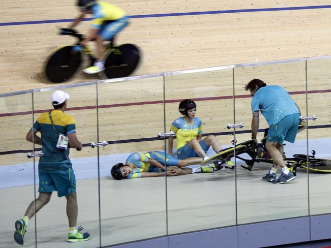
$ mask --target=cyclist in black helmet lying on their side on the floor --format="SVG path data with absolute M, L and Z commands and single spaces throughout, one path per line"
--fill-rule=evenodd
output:
M 166 163 L 167 161 L 167 163 Z M 214 165 L 191 166 L 202 162 L 202 158 L 177 159 L 163 151 L 134 152 L 126 159 L 125 164 L 118 163 L 112 168 L 112 176 L 122 178 L 156 177 L 186 175 L 197 172 L 214 172 Z M 181 168 L 179 168 L 181 167 Z M 184 168 L 183 168 L 184 167 Z

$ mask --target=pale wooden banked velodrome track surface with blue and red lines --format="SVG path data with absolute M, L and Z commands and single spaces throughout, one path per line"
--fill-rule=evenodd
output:
M 9 1 L 1 3 L 0 35 L 0 92 L 12 92 L 32 88 L 53 86 L 40 80 L 39 72 L 47 53 L 57 45 L 68 44 L 72 38 L 57 35 L 58 28 L 68 25 L 66 20 L 74 18 L 77 9 L 74 1 Z M 329 55 L 330 36 L 325 31 L 330 25 L 330 8 L 280 10 L 302 6 L 326 6 L 328 1 L 112 1 L 124 8 L 131 24 L 118 37 L 117 43 L 130 42 L 139 45 L 143 60 L 136 75 L 152 74 L 220 65 L 254 63 L 277 59 Z M 269 11 L 241 12 L 243 9 Z M 271 9 L 270 9 L 271 8 Z M 232 13 L 209 13 L 229 10 Z M 188 13 L 179 16 L 156 16 L 152 14 Z M 200 12 L 200 13 L 197 13 Z M 206 13 L 204 13 L 206 12 Z M 142 16 L 138 16 L 142 15 Z M 49 20 L 63 20 L 57 23 Z M 37 21 L 41 23 L 29 24 Z M 44 22 L 42 22 L 44 21 Z M 23 22 L 23 23 L 22 23 Z M 10 24 L 10 25 L 6 25 Z M 25 24 L 24 24 L 25 23 Z M 79 27 L 86 32 L 89 22 Z M 308 90 L 321 90 L 308 97 L 308 114 L 319 116 L 314 125 L 329 125 L 330 113 L 330 63 L 328 60 L 309 61 Z M 293 99 L 306 113 L 305 63 L 249 67 L 235 71 L 236 121 L 244 122 L 244 130 L 250 130 L 250 97 L 243 86 L 252 78 L 261 78 L 268 84 L 280 84 L 293 92 Z M 68 83 L 98 80 L 97 76 L 80 73 Z M 117 84 L 99 85 L 100 140 L 128 140 L 103 148 L 104 154 L 136 150 L 162 149 L 162 141 L 135 142 L 131 139 L 152 138 L 164 132 L 162 101 L 162 78 L 149 78 Z M 64 84 L 63 84 L 64 85 Z M 197 99 L 198 116 L 204 121 L 204 133 L 228 132 L 227 123 L 233 123 L 232 69 L 169 76 L 166 78 L 166 130 L 173 119 L 179 116 L 178 102 L 181 99 Z M 68 113 L 77 123 L 79 139 L 85 143 L 97 141 L 95 86 L 69 88 L 71 95 Z M 51 91 L 38 92 L 34 98 L 34 109 L 50 108 Z M 212 97 L 224 97 L 212 100 Z M 209 100 L 203 100 L 209 98 Z M 29 150 L 25 134 L 32 125 L 31 95 L 0 99 L 2 151 Z M 152 104 L 132 105 L 152 101 Z M 114 107 L 119 104 L 119 107 Z M 122 105 L 121 105 L 122 104 Z M 14 113 L 8 115 L 7 113 Z M 35 115 L 35 118 L 38 114 Z M 263 119 L 263 118 L 261 118 Z M 261 128 L 266 124 L 262 120 Z M 311 137 L 326 137 L 329 129 L 316 129 Z M 301 135 L 304 139 L 306 136 Z M 244 141 L 249 134 L 241 135 Z M 8 143 L 8 140 L 11 140 Z M 220 136 L 220 143 L 230 144 L 233 136 Z M 83 156 L 95 156 L 86 148 Z M 82 156 L 82 153 L 72 156 Z M 23 163 L 25 152 L 0 156 L 1 165 Z

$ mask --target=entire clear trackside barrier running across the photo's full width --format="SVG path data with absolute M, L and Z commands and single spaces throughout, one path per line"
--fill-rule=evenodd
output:
M 7 212 L 0 226 L 2 236 L 8 238 L 2 239 L 0 246 L 15 245 L 13 224 L 22 218 L 35 197 L 34 163 L 26 158 L 33 145 L 25 135 L 40 113 L 52 109 L 50 95 L 57 89 L 70 95 L 66 113 L 74 117 L 77 138 L 85 144 L 82 151 L 71 149 L 70 154 L 77 182 L 78 225 L 91 233 L 84 247 L 330 213 L 327 182 L 331 174 L 312 170 L 312 159 L 309 170 L 298 166 L 295 180 L 284 185 L 261 180 L 271 164 L 255 163 L 249 171 L 240 167 L 244 162 L 239 159 L 232 159 L 237 164 L 235 170 L 223 168 L 214 173 L 123 180 L 111 177 L 112 166 L 125 163 L 133 152 L 168 151 L 168 139 L 165 142 L 157 134 L 170 131 L 173 120 L 181 116 L 178 105 L 183 99 L 197 103 L 203 138 L 214 135 L 222 148 L 233 147 L 234 139 L 237 144 L 249 140 L 251 96 L 243 88 L 253 78 L 285 87 L 302 115 L 317 116 L 316 121 L 308 121 L 308 130 L 297 134 L 294 144 L 286 143 L 286 157 L 310 155 L 315 150 L 316 158 L 331 159 L 327 149 L 331 139 L 329 58 L 196 69 L 1 95 L 0 195 L 7 200 L 0 205 Z M 240 122 L 244 128 L 235 133 L 226 128 L 228 123 Z M 258 141 L 267 127 L 260 115 Z M 109 144 L 90 146 L 103 140 Z M 40 149 L 35 147 L 36 151 Z M 176 139 L 173 149 L 176 150 Z M 214 154 L 209 149 L 207 155 Z M 38 196 L 38 159 L 35 161 Z M 280 172 L 278 169 L 278 175 Z M 29 222 L 24 246 L 71 246 L 66 243 L 65 208 L 66 199 L 53 193 L 37 218 Z

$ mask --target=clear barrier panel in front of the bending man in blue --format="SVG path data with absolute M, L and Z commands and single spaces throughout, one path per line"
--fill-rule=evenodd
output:
M 261 79 L 267 85 L 284 87 L 301 108 L 301 111 L 306 110 L 305 61 L 290 64 L 239 67 L 235 68 L 234 78 L 236 122 L 243 122 L 245 125 L 243 130 L 249 131 L 247 134 L 239 133 L 236 135 L 238 143 L 251 139 L 252 96 L 250 91 L 244 90 L 244 86 L 254 78 Z M 269 127 L 261 113 L 259 119 L 259 129 L 261 131 Z M 263 137 L 264 132 L 258 133 L 258 142 Z M 298 136 L 294 144 L 288 142 L 285 142 L 285 144 L 284 152 L 288 158 L 292 157 L 294 153 L 306 153 L 307 151 L 305 136 Z M 242 157 L 250 159 L 248 155 Z M 249 171 L 239 166 L 240 164 L 245 165 L 243 161 L 237 160 L 236 162 L 238 224 L 308 215 L 308 180 L 305 171 L 298 172 L 296 179 L 291 183 L 279 185 L 262 180 L 262 177 L 270 170 L 271 164 L 255 162 L 252 171 Z M 277 177 L 280 175 L 281 169 L 278 167 Z

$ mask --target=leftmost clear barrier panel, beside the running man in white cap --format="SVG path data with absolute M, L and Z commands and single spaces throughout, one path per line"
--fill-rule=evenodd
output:
M 35 199 L 34 159 L 26 156 L 32 152 L 33 144 L 25 139 L 33 126 L 32 99 L 32 94 L 0 98 L 0 247 L 18 245 L 13 239 L 14 223 L 23 218 L 27 206 Z M 28 230 L 24 246 L 35 247 L 35 220 L 30 221 Z

